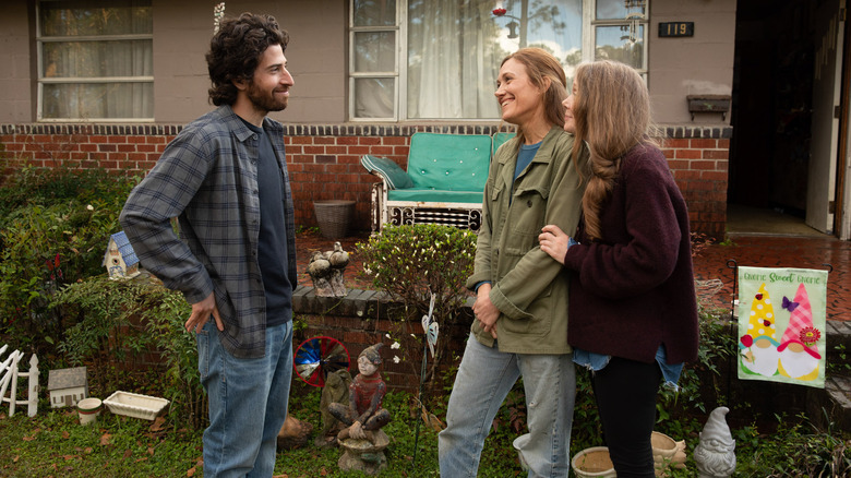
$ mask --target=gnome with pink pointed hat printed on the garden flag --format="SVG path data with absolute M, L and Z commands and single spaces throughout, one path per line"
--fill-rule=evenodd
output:
M 817 343 L 822 333 L 813 326 L 813 307 L 803 284 L 798 286 L 794 300 L 783 297 L 782 307 L 790 312 L 789 326 L 777 351 L 780 352 L 779 372 L 784 377 L 798 380 L 815 380 L 818 378 Z

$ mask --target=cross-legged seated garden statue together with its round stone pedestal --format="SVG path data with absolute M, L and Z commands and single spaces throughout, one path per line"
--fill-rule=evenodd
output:
M 337 433 L 337 443 L 345 450 L 337 465 L 343 470 L 359 469 L 376 474 L 387 466 L 384 449 L 389 439 L 382 427 L 391 420 L 389 411 L 382 408 L 387 386 L 381 379 L 379 366 L 382 344 L 367 347 L 358 356 L 358 373 L 349 385 L 348 406 L 328 405 L 328 411 L 346 425 Z

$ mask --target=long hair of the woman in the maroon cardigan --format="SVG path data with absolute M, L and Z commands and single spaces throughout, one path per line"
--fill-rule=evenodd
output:
M 579 64 L 574 82 L 574 155 L 583 142 L 591 154 L 591 177 L 583 195 L 585 228 L 591 239 L 600 239 L 600 207 L 614 187 L 621 158 L 636 144 L 650 143 L 650 95 L 638 72 L 616 61 Z

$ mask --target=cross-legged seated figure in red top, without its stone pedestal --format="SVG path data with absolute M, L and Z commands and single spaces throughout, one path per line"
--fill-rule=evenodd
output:
M 349 385 L 349 406 L 339 403 L 328 405 L 331 415 L 347 426 L 337 433 L 338 442 L 352 438 L 375 444 L 374 431 L 391 420 L 389 411 L 381 406 L 387 391 L 387 385 L 379 373 L 382 362 L 379 354 L 381 347 L 382 344 L 367 347 L 358 356 L 360 373 Z

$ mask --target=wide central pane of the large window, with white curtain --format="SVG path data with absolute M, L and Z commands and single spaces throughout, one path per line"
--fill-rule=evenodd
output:
M 500 62 L 520 44 L 550 50 L 565 68 L 578 62 L 582 0 L 508 0 L 495 16 L 493 0 L 409 0 L 408 118 L 500 117 Z M 508 22 L 520 23 L 510 36 Z

